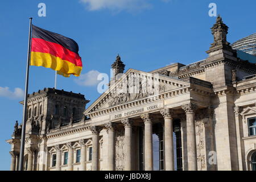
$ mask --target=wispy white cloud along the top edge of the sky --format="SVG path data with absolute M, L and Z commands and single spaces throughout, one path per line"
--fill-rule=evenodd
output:
M 115 11 L 139 11 L 152 7 L 150 0 L 80 0 L 90 11 L 110 9 Z M 166 0 L 162 0 L 166 1 Z M 168 1 L 168 0 L 167 0 Z

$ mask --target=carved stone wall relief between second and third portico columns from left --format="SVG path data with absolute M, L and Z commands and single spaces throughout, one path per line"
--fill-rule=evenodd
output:
M 115 132 L 115 171 L 125 169 L 125 134 L 124 130 Z

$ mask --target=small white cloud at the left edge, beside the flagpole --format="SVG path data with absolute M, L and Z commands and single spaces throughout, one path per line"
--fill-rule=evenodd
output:
M 12 92 L 9 87 L 0 86 L 0 97 L 7 97 L 11 99 L 22 99 L 24 97 L 24 91 L 21 88 L 15 88 Z

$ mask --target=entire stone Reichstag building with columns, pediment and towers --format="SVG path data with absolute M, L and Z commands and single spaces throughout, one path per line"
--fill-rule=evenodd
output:
M 256 117 L 256 65 L 237 57 L 227 34 L 219 16 L 209 56 L 189 65 L 123 73 L 118 55 L 109 90 L 86 110 L 81 94 L 50 88 L 31 94 L 25 168 L 255 169 L 249 119 Z M 16 170 L 20 126 L 7 142 Z

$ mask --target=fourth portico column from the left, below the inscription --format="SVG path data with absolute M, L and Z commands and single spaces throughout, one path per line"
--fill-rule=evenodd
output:
M 144 166 L 145 171 L 153 170 L 153 139 L 152 139 L 152 118 L 151 114 L 142 114 L 144 121 Z

